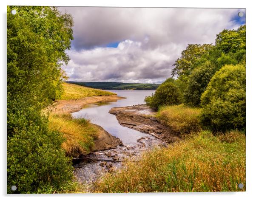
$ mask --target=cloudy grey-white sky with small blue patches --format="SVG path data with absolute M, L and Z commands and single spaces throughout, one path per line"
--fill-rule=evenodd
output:
M 74 19 L 69 81 L 161 83 L 188 44 L 245 24 L 245 9 L 59 7 Z M 244 12 L 243 17 L 238 12 Z

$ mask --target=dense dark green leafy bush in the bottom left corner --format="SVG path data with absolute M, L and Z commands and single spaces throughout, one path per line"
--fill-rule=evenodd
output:
M 37 115 L 34 113 L 34 115 Z M 24 115 L 23 115 L 24 116 Z M 63 138 L 49 131 L 47 120 L 21 119 L 7 140 L 7 193 L 36 193 L 45 188 L 61 190 L 73 177 L 71 159 L 61 149 Z M 23 123 L 23 124 L 22 124 Z M 17 186 L 11 191 L 11 186 Z

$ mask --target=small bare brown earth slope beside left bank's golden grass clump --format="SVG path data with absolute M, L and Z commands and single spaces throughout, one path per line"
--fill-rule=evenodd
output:
M 114 149 L 117 146 L 123 146 L 122 141 L 119 138 L 109 134 L 99 125 L 94 124 L 94 126 L 98 127 L 98 129 L 100 130 L 100 133 L 98 138 L 94 140 L 95 145 L 94 145 L 94 148 L 92 149 L 93 152 L 107 150 L 107 149 Z

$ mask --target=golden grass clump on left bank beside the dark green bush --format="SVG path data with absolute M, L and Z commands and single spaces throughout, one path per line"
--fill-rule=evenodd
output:
M 51 114 L 49 129 L 63 133 L 65 141 L 62 148 L 66 155 L 78 157 L 91 152 L 94 139 L 99 134 L 99 128 L 84 118 L 73 118 L 71 114 Z

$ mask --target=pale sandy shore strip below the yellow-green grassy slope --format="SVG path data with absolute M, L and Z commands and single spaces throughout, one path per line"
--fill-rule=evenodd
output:
M 126 99 L 117 95 L 108 96 L 88 96 L 82 99 L 70 99 L 70 100 L 58 100 L 56 104 L 49 108 L 52 113 L 74 113 L 81 110 L 86 104 L 92 104 L 97 102 L 110 102 L 117 101 L 119 99 Z

